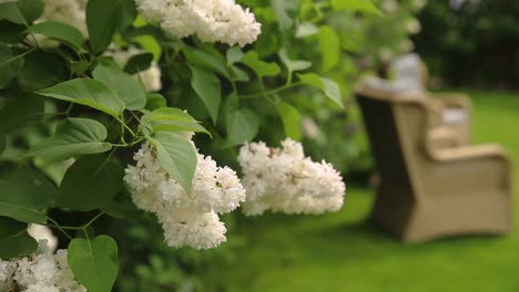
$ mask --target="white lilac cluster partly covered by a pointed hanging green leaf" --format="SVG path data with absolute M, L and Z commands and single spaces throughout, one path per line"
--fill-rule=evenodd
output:
M 192 191 L 186 194 L 161 167 L 150 144 L 133 158 L 136 165 L 126 168 L 124 180 L 132 187 L 133 202 L 156 215 L 167 246 L 211 249 L 226 241 L 217 213 L 231 212 L 245 200 L 234 170 L 197 154 Z

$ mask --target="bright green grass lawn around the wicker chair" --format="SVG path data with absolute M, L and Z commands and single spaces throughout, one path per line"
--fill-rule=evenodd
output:
M 471 96 L 474 140 L 502 144 L 519 169 L 519 94 L 475 92 Z M 516 189 L 518 182 L 515 175 Z M 508 237 L 403 244 L 366 221 L 372 202 L 372 190 L 350 188 L 336 213 L 267 215 L 241 222 L 234 233 L 245 242 L 234 251 L 234 261 L 207 271 L 208 290 L 519 291 L 517 212 L 515 231 Z

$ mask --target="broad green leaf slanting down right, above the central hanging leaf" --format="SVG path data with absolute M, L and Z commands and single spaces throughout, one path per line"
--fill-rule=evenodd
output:
M 122 71 L 115 62 L 103 60 L 95 66 L 92 76 L 118 93 L 128 109 L 141 109 L 146 105 L 144 88 L 130 74 Z

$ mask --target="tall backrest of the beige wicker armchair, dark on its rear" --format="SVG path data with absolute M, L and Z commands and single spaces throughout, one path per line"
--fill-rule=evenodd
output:
M 417 197 L 423 165 L 428 113 L 424 96 L 384 95 L 357 91 L 357 98 L 372 144 L 380 188 Z

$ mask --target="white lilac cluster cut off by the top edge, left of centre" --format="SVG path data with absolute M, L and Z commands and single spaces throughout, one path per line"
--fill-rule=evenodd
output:
M 204 42 L 241 46 L 256 41 L 261 24 L 234 0 L 135 0 L 150 23 L 177 38 L 196 34 Z

